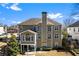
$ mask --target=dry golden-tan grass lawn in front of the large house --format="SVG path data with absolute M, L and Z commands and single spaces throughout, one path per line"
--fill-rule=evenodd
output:
M 56 50 L 54 50 L 37 52 L 35 56 L 72 56 L 72 54 L 69 52 L 57 52 Z

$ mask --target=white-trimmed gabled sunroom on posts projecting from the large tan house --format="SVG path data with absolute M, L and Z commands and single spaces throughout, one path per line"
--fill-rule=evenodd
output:
M 26 30 L 20 33 L 20 48 L 23 51 L 36 51 L 37 33 L 32 30 Z

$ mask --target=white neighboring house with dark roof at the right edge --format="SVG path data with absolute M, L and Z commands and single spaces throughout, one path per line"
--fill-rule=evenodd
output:
M 72 36 L 72 39 L 79 40 L 79 21 L 69 25 L 67 32 L 70 36 Z

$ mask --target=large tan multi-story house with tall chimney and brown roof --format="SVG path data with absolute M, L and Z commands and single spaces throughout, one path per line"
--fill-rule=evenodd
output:
M 47 12 L 42 12 L 42 18 L 31 18 L 18 25 L 20 46 L 22 50 L 31 47 L 62 47 L 61 24 L 47 18 Z M 28 48 L 27 48 L 28 47 Z

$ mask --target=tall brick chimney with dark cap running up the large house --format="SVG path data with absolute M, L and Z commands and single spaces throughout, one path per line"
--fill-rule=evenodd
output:
M 47 12 L 42 12 L 41 45 L 47 45 Z

